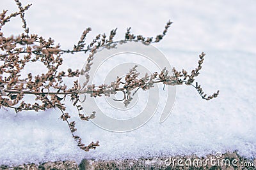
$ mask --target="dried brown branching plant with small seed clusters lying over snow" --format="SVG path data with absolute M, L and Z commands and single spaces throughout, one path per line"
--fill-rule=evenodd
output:
M 67 122 L 68 127 L 72 133 L 72 137 L 77 141 L 77 145 L 84 151 L 95 149 L 99 146 L 99 141 L 90 143 L 85 146 L 79 136 L 74 133 L 77 131 L 75 128 L 76 122 L 70 122 L 70 115 L 65 113 L 66 104 L 65 98 L 69 97 L 73 106 L 77 108 L 79 118 L 84 121 L 88 121 L 95 118 L 95 112 L 93 111 L 90 116 L 84 116 L 80 111 L 83 110 L 82 106 L 79 105 L 79 95 L 89 94 L 90 97 L 100 97 L 102 95 L 110 96 L 115 95 L 116 92 L 123 92 L 124 99 L 118 101 L 124 101 L 124 105 L 127 106 L 131 103 L 132 96 L 139 90 L 149 90 L 154 87 L 155 83 L 163 83 L 164 85 L 191 85 L 195 87 L 200 96 L 203 99 L 210 100 L 217 97 L 219 91 L 206 97 L 202 88 L 196 82 L 193 85 L 194 78 L 198 76 L 200 69 L 202 69 L 202 63 L 204 62 L 205 54 L 199 55 L 198 67 L 188 74 L 187 71 L 177 71 L 174 67 L 172 72 L 169 72 L 165 68 L 161 73 L 145 74 L 139 78 L 136 66 L 132 67 L 124 78 L 117 77 L 115 81 L 109 85 L 88 85 L 90 80 L 90 69 L 93 64 L 93 57 L 95 53 L 102 50 L 103 48 L 111 49 L 115 48 L 117 43 L 126 43 L 127 41 L 141 41 L 145 45 L 150 43 L 158 43 L 163 39 L 168 31 L 168 28 L 172 24 L 170 20 L 164 26 L 162 34 L 158 34 L 155 38 L 147 37 L 142 35 L 134 35 L 131 33 L 131 27 L 127 28 L 124 39 L 122 41 L 114 41 L 116 30 L 110 31 L 107 36 L 104 34 L 98 34 L 92 41 L 87 41 L 87 34 L 92 31 L 90 27 L 86 28 L 81 35 L 81 38 L 74 45 L 74 48 L 70 50 L 63 50 L 60 45 L 54 45 L 54 40 L 49 38 L 45 39 L 37 34 L 29 34 L 29 28 L 24 17 L 26 10 L 31 6 L 22 6 L 19 0 L 15 0 L 19 11 L 11 13 L 6 16 L 7 10 L 0 13 L 0 108 L 12 108 L 19 113 L 19 111 L 45 111 L 47 109 L 58 108 L 61 111 L 61 119 Z M 14 37 L 4 36 L 2 28 L 11 18 L 20 16 L 22 20 L 22 27 L 24 33 Z M 63 58 L 61 57 L 64 53 L 70 55 L 78 52 L 89 53 L 85 69 L 79 71 L 72 71 L 68 68 L 67 71 L 60 71 L 59 67 L 63 64 Z M 20 78 L 22 71 L 24 71 L 26 64 L 40 62 L 44 64 L 47 71 L 42 74 L 34 75 L 29 73 L 26 78 Z M 172 74 L 169 74 L 172 73 Z M 86 82 L 83 85 L 79 85 L 78 81 L 74 81 L 74 85 L 70 88 L 65 85 L 63 78 L 76 78 L 79 76 L 85 76 Z M 187 80 L 188 79 L 188 80 Z M 46 92 L 45 92 L 46 90 Z M 132 94 L 132 90 L 134 90 Z M 32 95 L 35 96 L 35 103 L 26 103 L 24 96 Z M 63 95 L 64 97 L 60 97 Z M 36 103 L 36 101 L 40 101 Z

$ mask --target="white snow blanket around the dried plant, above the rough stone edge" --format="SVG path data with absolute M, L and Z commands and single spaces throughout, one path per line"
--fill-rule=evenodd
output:
M 77 118 L 77 134 L 84 143 L 100 147 L 83 152 L 71 138 L 60 111 L 39 113 L 0 110 L 0 164 L 54 160 L 127 159 L 159 155 L 205 155 L 238 150 L 256 157 L 255 39 L 256 2 L 246 1 L 22 1 L 33 3 L 26 13 L 31 33 L 51 37 L 62 48 L 72 48 L 81 32 L 92 27 L 93 36 L 118 27 L 116 39 L 127 27 L 134 34 L 155 36 L 170 18 L 174 24 L 156 44 L 177 69 L 194 69 L 198 54 L 206 53 L 199 81 L 205 92 L 220 89 L 220 96 L 204 101 L 191 87 L 177 87 L 172 114 L 163 124 L 161 106 L 146 125 L 126 133 L 108 132 Z M 14 1 L 2 0 L 0 10 L 17 10 Z M 3 31 L 22 32 L 19 18 Z M 87 55 L 86 55 L 87 56 Z M 63 68 L 80 69 L 86 56 L 65 55 Z M 32 67 L 40 73 L 38 67 Z M 254 74 L 254 76 L 253 76 Z

